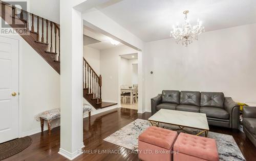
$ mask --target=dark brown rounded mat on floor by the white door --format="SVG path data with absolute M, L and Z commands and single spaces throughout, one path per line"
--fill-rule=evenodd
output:
M 0 144 L 0 160 L 23 151 L 29 147 L 31 143 L 32 139 L 30 137 L 24 137 Z

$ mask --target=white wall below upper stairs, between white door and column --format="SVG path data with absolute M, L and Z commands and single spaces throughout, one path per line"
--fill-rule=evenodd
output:
M 31 135 L 40 131 L 40 122 L 35 120 L 38 113 L 59 108 L 60 75 L 25 40 L 21 38 L 19 44 L 22 135 Z M 57 124 L 59 120 L 52 126 Z

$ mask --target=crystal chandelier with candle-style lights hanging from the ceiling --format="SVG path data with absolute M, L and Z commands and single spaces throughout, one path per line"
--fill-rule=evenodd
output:
M 187 47 L 188 44 L 192 43 L 193 40 L 198 40 L 198 35 L 204 32 L 204 26 L 202 26 L 202 21 L 197 20 L 197 25 L 191 26 L 189 21 L 187 20 L 188 10 L 184 11 L 185 14 L 185 23 L 182 24 L 180 28 L 178 23 L 173 25 L 173 31 L 170 32 L 170 37 L 176 39 L 176 43 L 178 44 L 182 41 L 182 45 Z

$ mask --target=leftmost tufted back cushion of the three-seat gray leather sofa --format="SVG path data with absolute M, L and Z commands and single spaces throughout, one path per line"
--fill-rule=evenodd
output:
M 164 90 L 162 91 L 163 103 L 180 103 L 180 91 Z

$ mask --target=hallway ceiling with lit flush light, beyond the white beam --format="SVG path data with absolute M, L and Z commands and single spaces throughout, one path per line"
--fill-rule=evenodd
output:
M 91 28 L 88 28 L 87 26 L 83 26 L 83 45 L 86 45 L 98 50 L 113 48 L 117 46 L 123 46 L 122 43 L 118 45 L 111 44 L 110 38 L 108 36 L 105 36 L 99 32 L 96 32 Z

